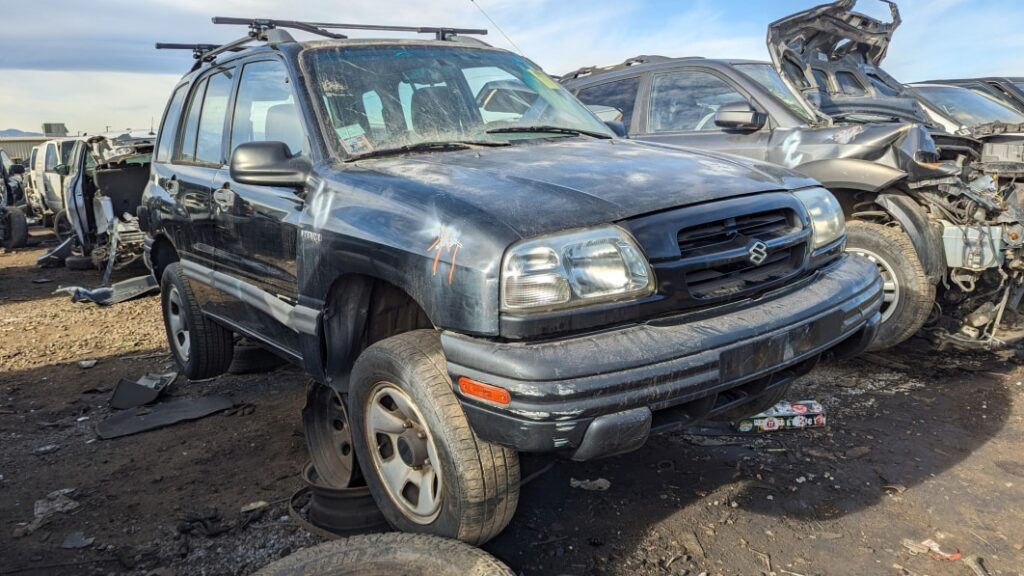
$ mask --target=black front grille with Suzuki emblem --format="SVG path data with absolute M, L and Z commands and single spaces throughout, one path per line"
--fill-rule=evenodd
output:
M 680 264 L 690 297 L 728 298 L 778 283 L 804 265 L 808 235 L 788 208 L 729 216 L 679 231 Z M 752 247 L 764 245 L 764 259 Z

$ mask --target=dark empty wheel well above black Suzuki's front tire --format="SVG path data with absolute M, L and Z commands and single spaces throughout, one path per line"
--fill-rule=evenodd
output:
M 352 365 L 371 344 L 434 324 L 425 307 L 384 279 L 346 274 L 334 280 L 321 316 L 319 369 L 325 382 L 347 394 Z

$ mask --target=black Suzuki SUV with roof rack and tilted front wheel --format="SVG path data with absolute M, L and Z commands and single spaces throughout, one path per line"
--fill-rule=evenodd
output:
M 518 452 L 759 412 L 876 331 L 882 281 L 810 178 L 614 137 L 459 31 L 249 24 L 198 48 L 139 211 L 171 349 L 189 378 L 232 333 L 304 367 L 317 472 L 354 453 L 396 528 L 483 542 Z

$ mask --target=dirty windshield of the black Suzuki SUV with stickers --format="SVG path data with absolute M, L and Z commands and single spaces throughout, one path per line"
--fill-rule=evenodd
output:
M 511 53 L 381 46 L 313 49 L 306 57 L 334 141 L 349 157 L 611 137 L 554 80 Z

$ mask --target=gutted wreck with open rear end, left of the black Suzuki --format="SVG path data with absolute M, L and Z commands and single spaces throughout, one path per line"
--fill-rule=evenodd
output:
M 155 134 L 125 132 L 79 139 L 68 157 L 63 211 L 95 268 L 110 273 L 142 257 L 136 211 L 150 177 Z

